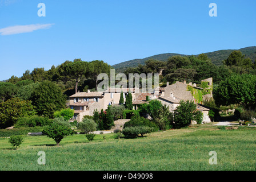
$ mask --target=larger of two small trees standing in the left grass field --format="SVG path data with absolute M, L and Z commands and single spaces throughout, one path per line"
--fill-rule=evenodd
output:
M 51 123 L 51 125 L 44 126 L 42 130 L 42 134 L 54 139 L 57 146 L 59 146 L 59 143 L 63 138 L 73 135 L 73 133 L 74 131 L 69 127 L 55 122 Z

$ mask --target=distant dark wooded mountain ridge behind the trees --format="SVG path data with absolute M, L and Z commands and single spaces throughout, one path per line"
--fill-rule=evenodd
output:
M 233 51 L 241 51 L 246 56 L 246 58 L 249 57 L 253 61 L 256 60 L 256 46 L 245 47 L 238 50 L 227 49 L 227 50 L 220 50 L 220 51 L 214 51 L 214 52 L 207 52 L 205 54 L 211 59 L 211 61 L 215 65 L 221 65 L 222 61 L 227 59 L 227 57 L 229 57 L 230 53 Z M 119 64 L 115 64 L 112 67 L 117 69 L 117 72 L 121 72 L 121 71 L 124 71 L 127 67 L 137 67 L 138 64 L 143 65 L 145 64 L 145 61 L 149 59 L 167 61 L 167 59 L 171 56 L 189 56 L 189 55 L 181 55 L 179 53 L 162 53 L 159 55 L 146 57 L 144 59 L 134 59 L 130 61 L 125 61 Z M 198 55 L 195 55 L 195 56 L 198 56 Z

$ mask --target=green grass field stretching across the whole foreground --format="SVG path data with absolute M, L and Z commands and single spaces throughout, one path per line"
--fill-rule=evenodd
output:
M 92 142 L 85 135 L 73 135 L 59 147 L 45 136 L 26 136 L 21 147 L 13 149 L 7 138 L 0 138 L 0 170 L 255 170 L 256 128 L 203 125 L 137 139 L 97 135 Z M 39 151 L 46 154 L 45 165 L 37 163 Z M 210 151 L 217 152 L 217 165 L 209 164 Z

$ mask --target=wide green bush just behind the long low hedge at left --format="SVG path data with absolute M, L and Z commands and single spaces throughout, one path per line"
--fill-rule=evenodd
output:
M 35 126 L 46 126 L 50 125 L 53 121 L 48 118 L 44 118 L 38 115 L 33 115 L 31 117 L 19 118 L 15 127 L 35 127 Z

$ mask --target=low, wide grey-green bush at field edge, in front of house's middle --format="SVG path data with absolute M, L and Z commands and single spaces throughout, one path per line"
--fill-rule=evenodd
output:
M 154 129 L 152 127 L 147 126 L 132 126 L 123 129 L 122 134 L 127 138 L 136 138 L 139 134 L 143 137 L 143 135 L 151 133 L 153 130 Z

